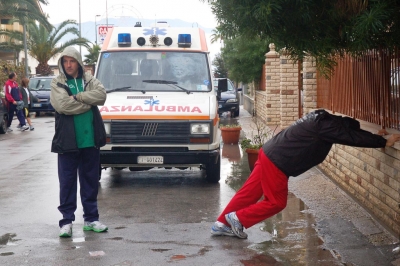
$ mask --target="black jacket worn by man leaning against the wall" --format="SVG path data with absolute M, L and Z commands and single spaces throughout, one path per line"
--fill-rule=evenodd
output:
M 298 176 L 323 162 L 334 143 L 355 147 L 382 148 L 386 139 L 360 129 L 350 117 L 317 110 L 266 142 L 265 155 L 288 177 Z

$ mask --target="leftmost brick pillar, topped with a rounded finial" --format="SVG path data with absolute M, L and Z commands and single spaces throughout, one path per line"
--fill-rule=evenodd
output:
M 266 124 L 280 124 L 280 62 L 279 53 L 275 51 L 275 45 L 269 45 L 269 52 L 265 54 L 266 76 Z

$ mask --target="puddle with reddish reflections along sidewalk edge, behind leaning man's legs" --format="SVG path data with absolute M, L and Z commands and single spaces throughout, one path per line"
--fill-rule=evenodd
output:
M 226 176 L 225 183 L 237 191 L 250 174 L 247 155 L 240 151 L 238 145 L 224 145 L 222 154 L 225 161 L 221 168 L 225 175 L 222 176 Z M 247 248 L 256 255 L 241 263 L 245 266 L 341 265 L 323 247 L 324 242 L 317 234 L 315 223 L 307 205 L 289 193 L 287 206 L 282 212 L 247 230 L 249 240 L 253 241 Z M 254 234 L 254 229 L 258 230 L 257 234 Z

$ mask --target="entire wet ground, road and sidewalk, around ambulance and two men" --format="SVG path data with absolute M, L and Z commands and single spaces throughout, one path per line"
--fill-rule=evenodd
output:
M 221 120 L 250 134 L 244 110 Z M 316 168 L 290 179 L 287 208 L 246 229 L 248 239 L 211 236 L 250 173 L 239 145 L 222 146 L 219 184 L 197 168 L 103 171 L 109 232 L 83 231 L 78 203 L 73 237 L 60 239 L 54 117 L 33 122 L 35 131 L 0 135 L 0 265 L 400 265 L 398 239 Z

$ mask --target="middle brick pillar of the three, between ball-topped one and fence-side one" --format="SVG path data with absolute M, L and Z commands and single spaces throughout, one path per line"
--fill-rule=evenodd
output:
M 281 55 L 280 59 L 280 124 L 282 128 L 287 128 L 299 118 L 299 67 L 298 62 L 290 60 L 286 53 Z

